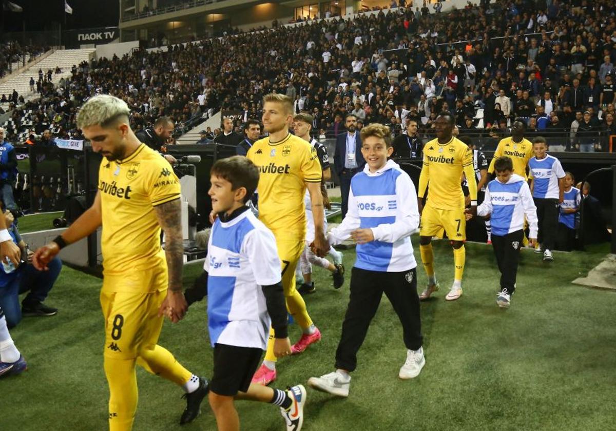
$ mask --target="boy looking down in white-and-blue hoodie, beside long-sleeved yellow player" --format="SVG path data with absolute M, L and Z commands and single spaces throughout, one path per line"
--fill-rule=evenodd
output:
M 524 238 L 524 216 L 529 222 L 529 245 L 537 242 L 537 208 L 530 195 L 529 185 L 513 173 L 513 162 L 507 156 L 494 163 L 496 179 L 485 188 L 485 199 L 476 211 L 466 209 L 466 219 L 492 214 L 492 248 L 501 273 L 500 292 L 496 304 L 507 308 L 516 291 L 517 264 Z

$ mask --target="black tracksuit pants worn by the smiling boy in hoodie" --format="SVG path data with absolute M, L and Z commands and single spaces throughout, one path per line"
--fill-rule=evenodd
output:
M 379 308 L 383 292 L 402 323 L 404 344 L 410 350 L 421 347 L 416 268 L 403 272 L 376 272 L 354 267 L 351 272 L 351 296 L 336 350 L 336 368 L 346 371 L 356 368 L 357 352 Z

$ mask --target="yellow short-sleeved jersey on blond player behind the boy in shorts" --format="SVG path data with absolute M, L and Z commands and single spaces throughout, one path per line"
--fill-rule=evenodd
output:
M 259 139 L 248 150 L 248 158 L 259 167 L 259 220 L 274 235 L 304 240 L 306 182 L 320 182 L 317 150 L 305 140 L 288 134 L 280 142 Z

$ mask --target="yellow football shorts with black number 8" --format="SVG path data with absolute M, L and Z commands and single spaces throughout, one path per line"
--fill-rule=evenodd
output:
M 105 318 L 105 356 L 128 360 L 142 349 L 158 343 L 163 316 L 158 308 L 167 296 L 167 271 L 155 269 L 140 273 L 142 286 L 132 276 L 105 276 L 100 291 L 100 306 Z M 132 279 L 132 280 L 131 280 Z M 123 280 L 130 283 L 127 289 Z

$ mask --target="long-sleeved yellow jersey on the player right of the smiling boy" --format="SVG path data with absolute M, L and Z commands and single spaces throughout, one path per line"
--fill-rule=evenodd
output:
M 466 177 L 474 179 L 472 167 L 472 151 L 457 139 L 440 144 L 438 139 L 432 139 L 424 145 L 424 159 L 421 175 L 419 175 L 419 197 L 423 197 L 428 186 L 427 205 L 437 209 L 464 208 L 464 193 L 461 187 L 462 172 Z M 476 186 L 476 183 L 474 183 Z M 477 188 L 469 182 L 471 199 L 477 199 Z

